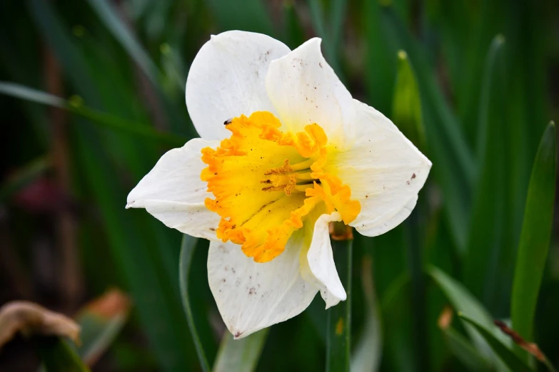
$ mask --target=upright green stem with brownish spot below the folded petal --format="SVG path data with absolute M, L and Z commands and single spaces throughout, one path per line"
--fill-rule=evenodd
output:
M 332 240 L 334 262 L 347 299 L 328 309 L 326 372 L 349 372 L 351 351 L 351 260 L 353 240 Z

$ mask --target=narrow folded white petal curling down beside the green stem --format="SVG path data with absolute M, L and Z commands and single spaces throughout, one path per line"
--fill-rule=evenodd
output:
M 311 247 L 306 254 L 308 269 L 315 279 L 313 284 L 321 292 L 321 296 L 326 302 L 326 309 L 347 298 L 334 263 L 328 232 L 328 222 L 331 221 L 341 221 L 341 215 L 333 212 L 331 215 L 318 217 L 314 224 Z M 312 278 L 309 278 L 308 275 L 303 275 L 303 278 L 312 282 Z

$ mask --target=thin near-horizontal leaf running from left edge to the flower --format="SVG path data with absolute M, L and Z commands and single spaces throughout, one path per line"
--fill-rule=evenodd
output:
M 64 108 L 64 110 L 83 116 L 84 118 L 87 118 L 93 123 L 101 125 L 104 128 L 117 130 L 122 133 L 138 135 L 142 138 L 150 140 L 157 140 L 159 143 L 164 143 L 166 145 L 181 146 L 186 143 L 187 140 L 187 138 L 182 135 L 159 132 L 148 125 L 133 123 L 129 120 L 119 118 L 118 116 L 89 108 L 83 105 L 78 97 L 74 97 L 73 100 L 71 99 L 66 101 L 62 98 L 56 97 L 56 95 L 51 95 L 43 91 L 38 91 L 34 88 L 20 86 L 19 84 L 4 81 L 0 81 L 0 93 L 21 98 L 23 100 L 29 100 L 31 102 Z

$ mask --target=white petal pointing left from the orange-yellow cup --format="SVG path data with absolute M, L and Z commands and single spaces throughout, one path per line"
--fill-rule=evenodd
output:
M 126 208 L 146 208 L 168 227 L 193 237 L 217 239 L 216 228 L 221 218 L 204 205 L 206 197 L 213 195 L 200 179 L 206 167 L 201 150 L 217 145 L 217 141 L 195 138 L 182 148 L 165 153 L 130 192 Z

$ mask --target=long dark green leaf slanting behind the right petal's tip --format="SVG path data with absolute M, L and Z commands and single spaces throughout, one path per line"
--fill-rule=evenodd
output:
M 437 86 L 423 49 L 391 6 L 381 9 L 380 19 L 383 35 L 408 53 L 416 73 L 428 153 L 436 165 L 433 172 L 445 195 L 445 212 L 456 246 L 464 254 L 470 189 L 475 175 L 473 155 L 460 131 L 458 120 Z

